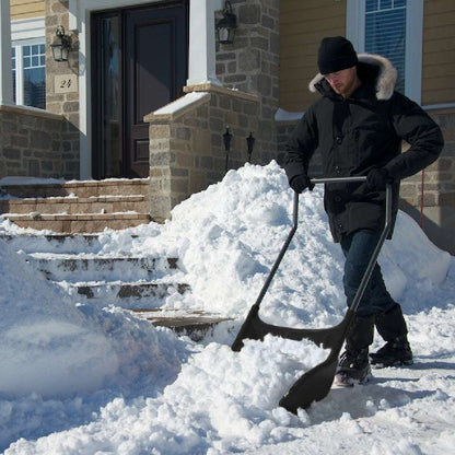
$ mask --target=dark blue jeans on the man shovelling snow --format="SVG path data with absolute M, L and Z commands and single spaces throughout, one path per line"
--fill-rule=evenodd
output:
M 341 238 L 341 249 L 346 257 L 343 285 L 348 299 L 348 306 L 351 306 L 355 292 L 362 281 L 374 248 L 380 236 L 370 231 L 358 231 Z M 373 269 L 370 282 L 363 293 L 357 315 L 361 317 L 386 313 L 397 303 L 388 293 L 381 267 L 378 264 Z

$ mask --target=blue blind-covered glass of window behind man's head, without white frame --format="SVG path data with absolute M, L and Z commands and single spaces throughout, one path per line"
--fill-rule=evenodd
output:
M 407 0 L 366 0 L 365 51 L 387 57 L 398 70 L 396 90 L 405 93 Z

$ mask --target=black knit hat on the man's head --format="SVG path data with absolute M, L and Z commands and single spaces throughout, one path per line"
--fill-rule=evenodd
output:
M 358 63 L 357 52 L 350 40 L 342 36 L 324 38 L 317 52 L 320 74 L 352 68 Z

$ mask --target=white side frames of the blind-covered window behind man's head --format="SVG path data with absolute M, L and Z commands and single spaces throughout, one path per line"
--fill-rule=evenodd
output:
M 365 1 L 348 0 L 346 36 L 359 52 L 365 49 Z M 418 104 L 422 97 L 423 0 L 406 4 L 405 94 Z

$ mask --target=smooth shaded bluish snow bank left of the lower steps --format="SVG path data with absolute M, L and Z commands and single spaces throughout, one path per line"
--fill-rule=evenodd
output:
M 65 398 L 178 371 L 170 335 L 121 311 L 73 304 L 4 242 L 0 257 L 0 393 Z

